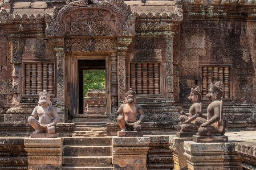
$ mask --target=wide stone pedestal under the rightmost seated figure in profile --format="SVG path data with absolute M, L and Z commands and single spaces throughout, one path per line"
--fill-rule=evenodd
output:
M 184 151 L 189 170 L 242 170 L 242 160 L 235 152 L 235 143 L 185 141 Z

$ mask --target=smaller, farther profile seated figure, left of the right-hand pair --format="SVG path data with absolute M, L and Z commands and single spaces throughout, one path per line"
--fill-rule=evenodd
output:
M 201 92 L 198 86 L 191 89 L 188 99 L 192 101 L 193 105 L 189 108 L 189 113 L 185 113 L 183 110 L 181 110 L 181 116 L 179 118 L 180 122 L 182 123 L 181 131 L 197 132 L 198 127 L 194 124 L 194 121 L 198 117 L 198 115 L 196 115 L 197 111 L 202 110 L 202 103 L 200 103 Z

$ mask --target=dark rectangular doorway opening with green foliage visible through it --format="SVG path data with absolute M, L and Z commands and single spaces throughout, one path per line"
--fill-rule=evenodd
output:
M 78 60 L 79 114 L 106 114 L 105 60 Z

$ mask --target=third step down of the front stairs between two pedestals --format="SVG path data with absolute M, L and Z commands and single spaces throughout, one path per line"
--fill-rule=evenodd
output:
M 63 156 L 63 165 L 105 165 L 112 164 L 112 156 Z

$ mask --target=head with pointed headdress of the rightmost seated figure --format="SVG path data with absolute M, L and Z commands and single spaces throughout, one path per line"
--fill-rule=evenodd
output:
M 214 99 L 221 99 L 222 95 L 223 95 L 223 91 L 222 91 L 221 82 L 217 81 L 214 84 L 211 83 L 209 92 L 208 94 L 206 94 L 206 97 L 213 101 Z

